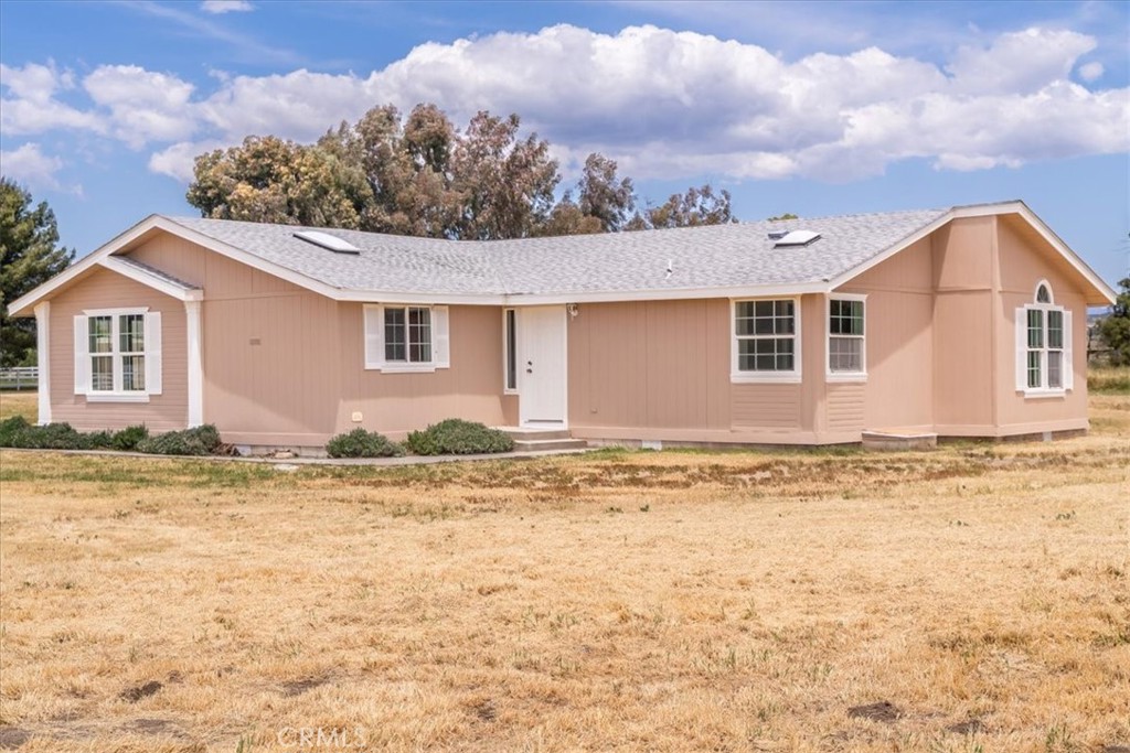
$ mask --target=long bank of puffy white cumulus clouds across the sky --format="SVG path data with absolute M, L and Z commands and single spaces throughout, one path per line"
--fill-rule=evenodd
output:
M 1130 90 L 1085 86 L 1103 72 L 1079 64 L 1095 49 L 1076 32 L 1029 28 L 944 65 L 878 47 L 786 60 L 705 34 L 559 25 L 423 44 L 362 75 L 214 73 L 202 90 L 103 65 L 81 81 L 86 108 L 60 100 L 72 102 L 73 82 L 53 65 L 3 69 L 2 123 L 5 133 L 102 129 L 184 181 L 206 148 L 249 134 L 312 141 L 375 105 L 434 102 L 458 125 L 479 110 L 519 113 L 566 169 L 601 151 L 637 178 L 850 181 L 903 159 L 976 170 L 1130 150 Z

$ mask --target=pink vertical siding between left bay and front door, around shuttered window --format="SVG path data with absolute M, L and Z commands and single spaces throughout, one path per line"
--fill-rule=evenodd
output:
M 516 413 L 516 399 L 502 396 L 496 307 L 451 307 L 451 368 L 382 374 L 364 368 L 362 304 L 168 235 L 131 255 L 203 288 L 205 421 L 227 441 L 320 446 L 356 427 L 400 438 L 446 418 L 498 426 Z

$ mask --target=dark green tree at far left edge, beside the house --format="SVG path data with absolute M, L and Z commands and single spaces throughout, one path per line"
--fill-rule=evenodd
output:
M 35 319 L 8 316 L 8 303 L 67 269 L 75 252 L 59 246 L 55 213 L 47 202 L 0 176 L 0 366 L 29 360 Z

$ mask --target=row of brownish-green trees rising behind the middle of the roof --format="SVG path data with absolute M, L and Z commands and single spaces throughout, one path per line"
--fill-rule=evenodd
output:
M 527 238 L 734 221 L 730 193 L 692 186 L 640 204 L 632 178 L 593 152 L 564 191 L 549 142 L 518 115 L 479 112 L 462 131 L 432 104 L 342 122 L 316 143 L 249 135 L 195 159 L 188 201 L 205 217 L 433 238 Z

